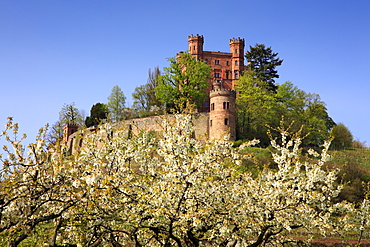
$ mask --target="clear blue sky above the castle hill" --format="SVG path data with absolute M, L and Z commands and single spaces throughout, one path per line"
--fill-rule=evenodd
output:
M 30 142 L 64 103 L 88 115 L 115 85 L 131 104 L 191 34 L 211 51 L 234 37 L 271 46 L 284 59 L 277 82 L 319 94 L 370 145 L 368 0 L 0 0 L 0 126 L 13 116 Z

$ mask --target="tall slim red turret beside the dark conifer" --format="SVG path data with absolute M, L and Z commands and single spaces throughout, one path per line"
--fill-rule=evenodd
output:
M 230 53 L 232 56 L 231 78 L 233 79 L 233 82 L 239 79 L 240 73 L 244 70 L 244 46 L 244 39 L 230 39 Z

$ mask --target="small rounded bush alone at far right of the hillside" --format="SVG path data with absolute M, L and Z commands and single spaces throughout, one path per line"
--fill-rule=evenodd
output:
M 345 149 L 351 148 L 353 144 L 353 135 L 351 131 L 342 123 L 334 126 L 330 134 L 333 137 L 332 148 L 333 149 Z

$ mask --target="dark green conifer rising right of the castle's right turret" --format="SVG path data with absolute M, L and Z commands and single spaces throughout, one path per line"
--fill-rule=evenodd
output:
M 264 44 L 256 44 L 250 46 L 245 57 L 248 61 L 248 69 L 256 72 L 256 77 L 267 82 L 265 87 L 268 90 L 276 92 L 275 78 L 279 78 L 276 67 L 283 63 L 283 60 L 278 58 L 278 53 L 274 53 L 271 47 L 265 47 Z

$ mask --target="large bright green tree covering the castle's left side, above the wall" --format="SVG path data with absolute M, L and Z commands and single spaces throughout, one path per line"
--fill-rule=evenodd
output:
M 206 99 L 211 69 L 189 53 L 169 58 L 170 67 L 158 76 L 156 96 L 167 110 L 182 112 L 189 106 L 200 107 Z

